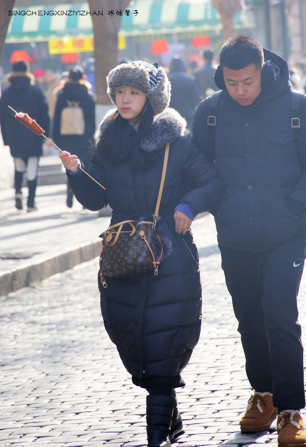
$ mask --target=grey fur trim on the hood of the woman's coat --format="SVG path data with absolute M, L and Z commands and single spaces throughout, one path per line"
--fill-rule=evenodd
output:
M 95 143 L 97 144 L 102 133 L 107 128 L 110 121 L 115 119 L 117 109 L 111 109 L 101 121 L 95 132 Z M 150 125 L 144 135 L 141 148 L 146 152 L 152 152 L 167 143 L 173 143 L 177 138 L 184 135 L 186 129 L 186 120 L 179 112 L 168 107 L 165 111 L 156 115 L 155 120 Z

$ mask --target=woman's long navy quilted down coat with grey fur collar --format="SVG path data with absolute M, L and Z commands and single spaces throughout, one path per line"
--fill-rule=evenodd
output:
M 97 139 L 113 112 L 101 123 Z M 132 172 L 129 164 L 113 166 L 95 154 L 89 173 L 106 191 L 82 171 L 67 172 L 75 197 L 86 208 L 110 205 L 112 224 L 131 218 L 152 219 L 165 146 L 171 143 L 157 222 L 165 250 L 158 275 L 150 272 L 128 279 L 107 278 L 106 289 L 99 280 L 106 330 L 127 371 L 140 380 L 180 376 L 200 335 L 198 252 L 191 231 L 184 236 L 175 232 L 173 214 L 179 203 L 188 203 L 194 216 L 209 211 L 222 196 L 223 183 L 191 139 L 182 136 L 185 125 L 173 109 L 156 117 L 142 142 L 142 150 L 158 155 L 158 161 L 147 170 Z

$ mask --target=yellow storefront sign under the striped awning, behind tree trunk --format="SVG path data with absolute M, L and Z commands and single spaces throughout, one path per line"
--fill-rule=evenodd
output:
M 126 42 L 124 36 L 118 36 L 118 50 L 124 50 Z M 93 37 L 73 38 L 49 40 L 48 41 L 49 54 L 66 54 L 66 53 L 84 53 L 92 52 L 94 50 Z

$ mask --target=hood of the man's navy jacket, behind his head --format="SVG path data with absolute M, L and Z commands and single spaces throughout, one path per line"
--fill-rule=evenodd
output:
M 220 65 L 216 69 L 214 80 L 220 90 L 227 91 Z M 270 92 L 271 94 L 277 91 L 277 95 L 279 91 L 283 92 L 291 88 L 287 61 L 265 48 L 261 87 L 263 91 Z

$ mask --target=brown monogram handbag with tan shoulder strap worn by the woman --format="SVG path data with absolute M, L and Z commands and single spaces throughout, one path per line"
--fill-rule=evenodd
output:
M 163 164 L 162 179 L 152 221 L 125 220 L 104 231 L 102 251 L 99 259 L 100 278 L 103 287 L 107 287 L 105 276 L 124 278 L 140 275 L 158 267 L 163 255 L 163 245 L 156 231 L 159 206 L 166 176 L 169 147 L 167 144 Z

